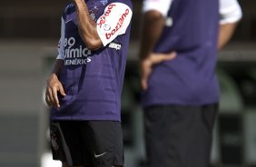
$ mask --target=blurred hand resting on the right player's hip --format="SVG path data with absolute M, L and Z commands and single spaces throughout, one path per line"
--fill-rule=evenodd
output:
M 143 87 L 143 90 L 146 90 L 148 88 L 148 78 L 153 70 L 153 65 L 160 64 L 164 61 L 169 61 L 174 59 L 176 56 L 175 52 L 172 52 L 170 54 L 150 54 L 146 59 L 143 59 L 141 61 L 141 70 L 142 70 L 142 78 L 141 78 L 141 84 Z

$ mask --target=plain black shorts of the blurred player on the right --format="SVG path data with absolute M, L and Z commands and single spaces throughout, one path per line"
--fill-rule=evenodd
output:
M 207 167 L 218 104 L 159 105 L 145 109 L 149 167 Z

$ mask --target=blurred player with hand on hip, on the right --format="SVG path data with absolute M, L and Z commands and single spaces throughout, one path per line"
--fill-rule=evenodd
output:
M 140 48 L 149 167 L 206 167 L 218 113 L 218 50 L 231 39 L 236 0 L 144 0 Z

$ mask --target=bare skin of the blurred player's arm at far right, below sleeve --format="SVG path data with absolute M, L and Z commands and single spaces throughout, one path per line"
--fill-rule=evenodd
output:
M 237 26 L 237 23 L 220 25 L 218 50 L 221 50 L 223 46 L 230 41 L 236 26 Z

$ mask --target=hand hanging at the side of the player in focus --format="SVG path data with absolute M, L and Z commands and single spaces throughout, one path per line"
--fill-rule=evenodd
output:
M 59 81 L 56 74 L 51 74 L 47 80 L 45 102 L 48 106 L 60 107 L 58 92 L 65 96 L 63 84 Z

